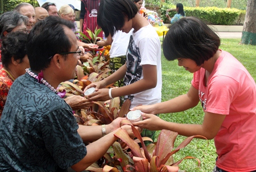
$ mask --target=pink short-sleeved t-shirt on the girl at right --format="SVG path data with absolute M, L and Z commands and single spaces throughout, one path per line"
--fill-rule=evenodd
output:
M 217 59 L 207 87 L 205 69 L 193 75 L 204 111 L 226 118 L 214 137 L 217 167 L 226 171 L 256 170 L 256 85 L 245 67 L 226 51 Z

